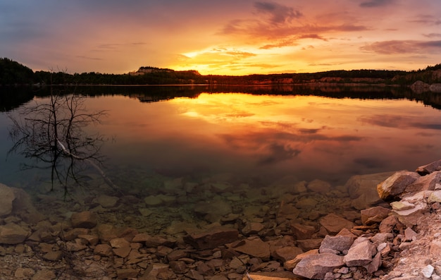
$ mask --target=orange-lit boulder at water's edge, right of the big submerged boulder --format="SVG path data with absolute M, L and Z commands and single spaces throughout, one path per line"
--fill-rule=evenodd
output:
M 378 195 L 383 200 L 391 200 L 401 195 L 406 187 L 421 176 L 416 172 L 398 171 L 377 185 Z

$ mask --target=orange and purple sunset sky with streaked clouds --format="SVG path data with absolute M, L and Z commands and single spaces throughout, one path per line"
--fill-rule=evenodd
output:
M 441 63 L 441 1 L 1 0 L 0 57 L 68 73 L 418 70 Z

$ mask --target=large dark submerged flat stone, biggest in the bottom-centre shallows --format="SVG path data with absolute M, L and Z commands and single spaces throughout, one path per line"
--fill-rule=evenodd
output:
M 184 236 L 184 241 L 197 249 L 216 248 L 237 241 L 239 232 L 226 226 L 213 226 L 211 229 Z M 269 253 L 269 250 L 268 250 Z

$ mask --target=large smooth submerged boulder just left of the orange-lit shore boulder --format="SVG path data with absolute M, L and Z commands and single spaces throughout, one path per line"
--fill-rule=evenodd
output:
M 352 199 L 352 207 L 361 210 L 371 207 L 378 202 L 381 202 L 377 193 L 377 185 L 393 172 L 384 172 L 377 174 L 355 175 L 349 178 L 344 185 L 347 188 L 349 197 Z

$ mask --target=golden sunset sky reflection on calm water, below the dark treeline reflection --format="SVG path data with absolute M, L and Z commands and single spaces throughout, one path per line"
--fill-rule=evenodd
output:
M 414 170 L 441 158 L 441 111 L 409 99 L 236 92 L 160 102 L 104 95 L 86 97 L 85 106 L 107 110 L 101 124 L 85 129 L 105 136 L 103 169 L 128 189 L 158 175 L 263 184 L 295 176 L 338 185 L 354 174 Z M 32 188 L 49 181 L 49 170 L 23 170 L 20 154 L 6 156 L 10 126 L 0 113 L 0 182 Z

